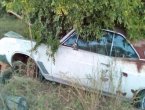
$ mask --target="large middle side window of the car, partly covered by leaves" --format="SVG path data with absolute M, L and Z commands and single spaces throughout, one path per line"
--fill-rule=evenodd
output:
M 103 36 L 99 39 L 94 38 L 94 40 L 86 41 L 79 37 L 77 44 L 79 49 L 109 56 L 112 45 L 112 38 L 112 33 L 104 32 Z

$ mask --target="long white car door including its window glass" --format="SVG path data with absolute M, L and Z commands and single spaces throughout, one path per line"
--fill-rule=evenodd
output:
M 85 41 L 76 33 L 72 34 L 56 53 L 56 77 L 69 81 L 75 80 L 85 86 L 106 90 L 109 81 L 109 76 L 106 74 L 111 64 L 109 56 L 112 35 L 105 32 L 101 39 Z M 74 44 L 77 44 L 77 48 L 72 48 Z

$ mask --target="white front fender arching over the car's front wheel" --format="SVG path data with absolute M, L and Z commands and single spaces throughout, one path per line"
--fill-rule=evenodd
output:
M 52 75 L 51 73 L 54 65 L 53 58 L 49 56 L 50 49 L 46 45 L 41 44 L 34 50 L 35 44 L 35 42 L 30 40 L 5 37 L 0 40 L 0 54 L 6 55 L 7 61 L 11 66 L 13 55 L 17 53 L 27 55 L 32 58 L 38 66 L 38 62 L 41 62 L 41 66 L 47 71 L 45 73 L 50 73 L 49 75 Z M 46 78 L 48 74 L 45 73 L 42 71 L 43 76 Z

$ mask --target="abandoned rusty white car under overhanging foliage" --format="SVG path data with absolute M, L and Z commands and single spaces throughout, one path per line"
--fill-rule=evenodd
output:
M 145 55 L 139 49 L 141 44 L 134 47 L 120 33 L 103 32 L 100 39 L 86 41 L 71 30 L 60 40 L 55 61 L 46 45 L 32 51 L 34 41 L 8 32 L 0 40 L 0 54 L 6 55 L 11 66 L 17 60 L 26 63 L 28 58 L 33 59 L 47 80 L 68 85 L 74 82 L 106 95 L 121 94 L 145 109 Z

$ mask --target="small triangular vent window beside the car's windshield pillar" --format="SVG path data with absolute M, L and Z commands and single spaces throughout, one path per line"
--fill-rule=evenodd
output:
M 77 35 L 72 34 L 65 42 L 63 45 L 72 47 L 72 45 L 76 42 L 77 40 Z

